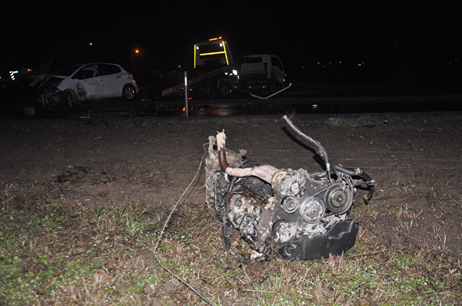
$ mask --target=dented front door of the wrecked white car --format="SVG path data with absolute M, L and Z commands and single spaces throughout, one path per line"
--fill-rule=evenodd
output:
M 90 64 L 82 67 L 72 78 L 75 79 L 80 99 L 90 100 L 106 96 L 104 80 L 100 76 L 97 65 Z

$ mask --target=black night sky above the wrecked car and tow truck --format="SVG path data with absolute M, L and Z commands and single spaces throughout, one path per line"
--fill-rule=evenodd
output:
M 462 18 L 455 7 L 441 2 L 416 6 L 194 2 L 185 7 L 170 3 L 2 5 L 0 70 L 29 66 L 40 70 L 45 63 L 57 70 L 83 63 L 85 54 L 87 62 L 127 66 L 135 48 L 140 53 L 133 55 L 134 66 L 183 69 L 192 64 L 192 46 L 216 36 L 228 40 L 235 58 L 278 54 L 286 70 L 294 71 L 317 62 L 392 63 L 425 70 L 462 56 Z

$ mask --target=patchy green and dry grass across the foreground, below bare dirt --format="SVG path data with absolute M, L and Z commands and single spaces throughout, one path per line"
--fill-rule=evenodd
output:
M 0 199 L 0 304 L 205 304 L 154 260 L 153 245 L 168 207 L 84 205 L 37 182 L 9 185 Z M 186 200 L 173 215 L 158 255 L 216 305 L 462 302 L 460 257 L 425 243 L 400 249 L 377 244 L 369 230 L 377 213 L 356 209 L 352 214 L 364 226 L 344 257 L 240 264 L 226 254 L 220 224 L 203 203 Z M 389 217 L 418 218 L 418 212 L 403 205 Z M 437 228 L 434 234 L 442 239 Z M 246 244 L 236 234 L 230 238 L 233 250 L 248 256 Z

